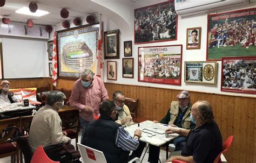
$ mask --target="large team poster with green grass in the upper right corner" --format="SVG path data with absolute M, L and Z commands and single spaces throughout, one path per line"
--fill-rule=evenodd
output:
M 206 60 L 255 56 L 256 8 L 208 15 Z

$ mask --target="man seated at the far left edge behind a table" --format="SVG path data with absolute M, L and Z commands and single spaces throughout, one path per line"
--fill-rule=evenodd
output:
M 17 96 L 14 93 L 9 91 L 10 82 L 7 80 L 2 81 L 2 89 L 0 90 L 0 103 L 14 103 L 19 102 Z

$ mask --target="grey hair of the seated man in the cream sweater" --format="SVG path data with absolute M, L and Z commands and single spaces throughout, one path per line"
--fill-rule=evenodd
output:
M 48 91 L 46 94 L 46 104 L 52 106 L 56 102 L 62 102 L 66 96 L 58 90 Z

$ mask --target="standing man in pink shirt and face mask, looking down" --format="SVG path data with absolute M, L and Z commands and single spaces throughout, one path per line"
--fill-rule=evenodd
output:
M 93 115 L 99 115 L 100 102 L 107 99 L 109 96 L 107 96 L 107 90 L 100 77 L 93 75 L 90 69 L 83 70 L 80 79 L 75 82 L 69 98 L 70 105 L 80 111 L 81 142 L 86 125 L 95 120 Z

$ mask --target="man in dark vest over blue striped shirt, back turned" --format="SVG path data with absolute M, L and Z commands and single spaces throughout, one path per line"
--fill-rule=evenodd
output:
M 120 124 L 114 122 L 118 118 L 118 110 L 113 101 L 100 103 L 99 112 L 99 119 L 87 125 L 82 144 L 102 151 L 107 162 L 128 162 L 130 151 L 139 146 L 142 131 L 134 131 L 132 138 Z

